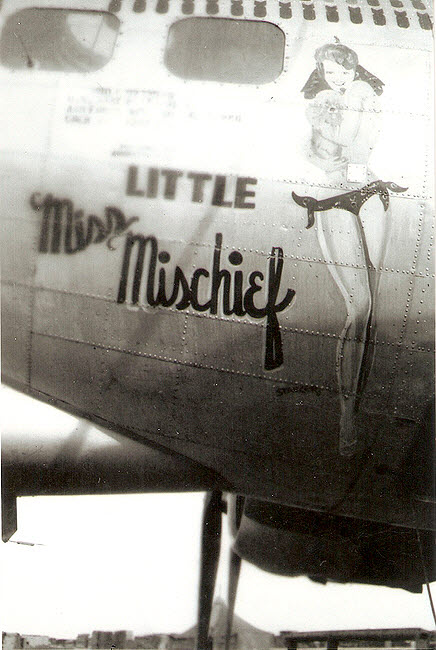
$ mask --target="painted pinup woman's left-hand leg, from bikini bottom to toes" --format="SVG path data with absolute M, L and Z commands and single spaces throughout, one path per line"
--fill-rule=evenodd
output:
M 336 351 L 336 374 L 341 407 L 339 451 L 355 452 L 355 420 L 358 390 L 362 389 L 363 364 L 369 344 L 373 309 L 370 273 L 366 268 L 365 242 L 358 218 L 345 210 L 332 209 L 317 214 L 317 232 L 328 269 L 342 294 L 346 320 Z

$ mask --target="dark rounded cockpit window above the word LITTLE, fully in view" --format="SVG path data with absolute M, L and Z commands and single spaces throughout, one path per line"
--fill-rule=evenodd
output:
M 273 23 L 185 18 L 170 26 L 165 64 L 183 79 L 264 84 L 282 72 L 284 50 L 285 35 Z

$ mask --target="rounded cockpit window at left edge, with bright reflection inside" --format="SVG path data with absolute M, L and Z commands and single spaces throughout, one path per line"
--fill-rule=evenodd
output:
M 110 60 L 119 27 L 106 11 L 22 9 L 5 22 L 0 62 L 14 70 L 93 72 Z

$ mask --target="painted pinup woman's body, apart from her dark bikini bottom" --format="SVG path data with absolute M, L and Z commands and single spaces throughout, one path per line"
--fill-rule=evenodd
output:
M 354 50 L 339 42 L 318 48 L 315 61 L 316 69 L 302 89 L 312 126 L 309 159 L 324 171 L 327 182 L 361 189 L 376 180 L 367 164 L 378 138 L 383 82 L 359 65 Z M 347 313 L 336 351 L 339 449 L 344 456 L 356 450 L 356 416 L 375 349 L 379 269 L 389 220 L 377 193 L 364 196 L 357 215 L 346 205 L 317 215 L 318 241 Z

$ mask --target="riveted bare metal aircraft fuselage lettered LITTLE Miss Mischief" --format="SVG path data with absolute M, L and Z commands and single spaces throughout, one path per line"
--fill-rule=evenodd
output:
M 5 381 L 235 492 L 431 528 L 427 10 L 405 0 L 406 26 L 384 0 L 385 24 L 370 2 L 333 21 L 334 3 L 308 19 L 310 2 L 244 0 L 238 20 L 285 35 L 282 73 L 256 85 L 172 74 L 168 30 L 188 16 L 155 4 L 113 3 L 98 71 L 0 68 Z M 337 39 L 367 76 L 303 93 Z M 329 109 L 361 114 L 353 136 Z

